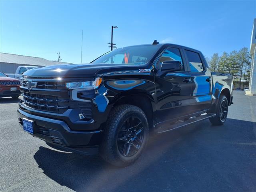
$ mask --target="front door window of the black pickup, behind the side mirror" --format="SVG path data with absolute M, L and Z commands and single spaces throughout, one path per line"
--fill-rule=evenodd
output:
M 180 61 L 184 70 L 180 50 L 178 48 L 166 49 L 158 61 L 158 67 L 160 67 L 160 63 L 163 61 Z

